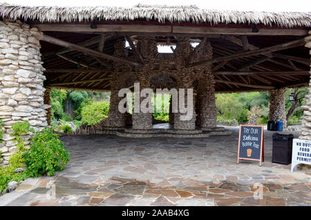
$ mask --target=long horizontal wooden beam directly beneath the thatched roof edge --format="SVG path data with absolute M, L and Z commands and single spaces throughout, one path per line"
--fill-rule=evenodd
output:
M 215 28 L 198 26 L 167 26 L 167 25 L 137 25 L 137 24 L 32 24 L 41 31 L 60 31 L 73 33 L 185 33 L 185 34 L 219 34 L 219 35 L 308 35 L 308 30 L 296 28 L 259 28 L 257 33 L 252 28 Z

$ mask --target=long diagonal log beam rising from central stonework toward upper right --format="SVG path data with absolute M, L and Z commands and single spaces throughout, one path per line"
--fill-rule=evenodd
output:
M 200 66 L 200 65 L 207 65 L 207 64 L 214 64 L 216 62 L 223 62 L 225 60 L 231 60 L 231 59 L 238 59 L 241 57 L 251 57 L 251 56 L 255 56 L 255 55 L 260 55 L 263 53 L 269 53 L 269 52 L 274 52 L 274 51 L 281 51 L 281 50 L 285 50 L 288 48 L 293 48 L 296 46 L 301 46 L 305 44 L 305 39 L 297 39 L 294 40 L 292 42 L 287 42 L 287 43 L 283 43 L 283 44 L 278 44 L 275 46 L 269 46 L 266 48 L 261 48 L 258 50 L 254 50 L 254 51 L 246 51 L 246 52 L 242 52 L 242 53 L 236 53 L 233 55 L 227 55 L 225 57 L 217 57 L 214 59 L 209 59 L 209 60 L 203 60 L 203 61 L 199 61 L 199 62 L 194 62 L 192 64 L 188 64 L 187 66 Z

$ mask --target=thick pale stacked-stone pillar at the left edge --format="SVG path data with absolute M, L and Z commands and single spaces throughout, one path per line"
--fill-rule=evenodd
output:
M 17 152 L 13 143 L 11 126 L 15 122 L 28 121 L 35 130 L 46 122 L 40 43 L 42 33 L 21 21 L 0 21 L 0 120 L 5 133 L 0 150 L 3 164 Z M 29 147 L 30 136 L 23 137 Z

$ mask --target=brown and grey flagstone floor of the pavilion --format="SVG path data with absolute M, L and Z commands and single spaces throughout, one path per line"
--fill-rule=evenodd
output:
M 63 137 L 66 169 L 28 178 L 0 205 L 311 205 L 311 169 L 272 163 L 274 132 L 265 131 L 260 167 L 236 163 L 238 127 L 230 129 L 194 139 Z

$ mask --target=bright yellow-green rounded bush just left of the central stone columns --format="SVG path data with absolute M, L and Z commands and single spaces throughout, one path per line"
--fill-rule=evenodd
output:
M 92 102 L 82 108 L 81 121 L 86 125 L 95 125 L 108 117 L 109 104 L 106 102 Z

